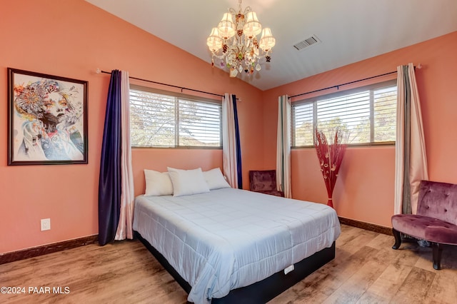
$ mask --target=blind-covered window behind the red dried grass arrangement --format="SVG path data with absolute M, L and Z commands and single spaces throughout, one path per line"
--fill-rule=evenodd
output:
M 292 103 L 292 146 L 313 146 L 315 128 L 340 127 L 348 144 L 392 143 L 396 136 L 396 81 Z

